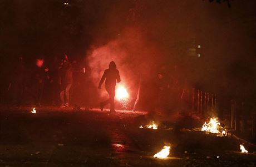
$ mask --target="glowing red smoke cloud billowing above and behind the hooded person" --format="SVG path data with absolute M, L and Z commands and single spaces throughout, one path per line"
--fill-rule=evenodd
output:
M 121 83 L 133 98 L 135 85 L 139 84 L 139 77 L 150 77 L 150 71 L 157 64 L 157 50 L 150 43 L 139 28 L 125 28 L 116 39 L 99 47 L 92 46 L 87 54 L 87 62 L 91 70 L 91 78 L 95 87 L 99 84 L 104 70 L 114 60 L 121 76 Z M 105 91 L 100 91 L 104 97 Z

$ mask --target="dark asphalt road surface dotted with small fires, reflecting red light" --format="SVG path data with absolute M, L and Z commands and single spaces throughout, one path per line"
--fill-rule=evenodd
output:
M 256 166 L 256 149 L 240 141 L 180 130 L 200 127 L 184 117 L 146 112 L 1 108 L 0 166 Z M 139 128 L 154 120 L 159 129 Z M 153 155 L 171 145 L 167 159 Z

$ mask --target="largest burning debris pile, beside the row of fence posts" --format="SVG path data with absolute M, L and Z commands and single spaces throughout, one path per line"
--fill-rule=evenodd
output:
M 206 131 L 206 133 L 216 133 L 221 134 L 223 136 L 227 136 L 227 131 L 224 130 L 222 126 L 220 126 L 220 123 L 218 122 L 218 118 L 210 118 L 209 123 L 204 123 L 201 131 Z

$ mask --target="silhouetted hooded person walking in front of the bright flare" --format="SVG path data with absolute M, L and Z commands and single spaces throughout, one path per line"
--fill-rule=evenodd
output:
M 110 103 L 110 112 L 115 112 L 116 82 L 119 83 L 121 79 L 119 75 L 119 70 L 116 69 L 116 63 L 114 61 L 110 62 L 109 69 L 106 69 L 104 74 L 102 75 L 99 83 L 99 89 L 101 89 L 101 85 L 104 83 L 104 81 L 107 93 L 109 93 L 109 99 L 100 103 L 100 109 L 103 110 L 104 106 Z

